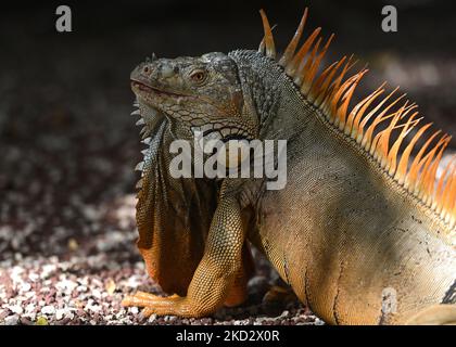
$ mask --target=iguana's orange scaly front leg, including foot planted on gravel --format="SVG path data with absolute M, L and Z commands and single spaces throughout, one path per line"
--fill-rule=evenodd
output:
M 123 306 L 144 307 L 144 316 L 203 317 L 213 313 L 224 305 L 239 275 L 244 237 L 239 202 L 230 194 L 223 194 L 212 220 L 203 258 L 193 274 L 187 296 L 160 297 L 138 293 L 127 296 Z

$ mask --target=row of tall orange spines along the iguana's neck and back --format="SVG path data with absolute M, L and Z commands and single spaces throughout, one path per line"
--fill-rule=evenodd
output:
M 278 64 L 330 125 L 355 140 L 385 172 L 453 228 L 456 222 L 456 156 L 438 176 L 439 164 L 451 137 L 440 130 L 429 133 L 431 123 L 418 126 L 422 117 L 418 118 L 417 105 L 404 101 L 405 94 L 397 95 L 398 88 L 382 97 L 385 82 L 349 110 L 353 93 L 368 70 L 363 67 L 345 77 L 356 64 L 352 55 L 349 59 L 343 56 L 319 73 L 333 35 L 322 46 L 319 37 L 321 28 L 316 28 L 297 49 L 307 14 L 305 9 Z M 263 10 L 261 15 L 264 39 L 258 51 L 276 60 L 269 22 Z M 410 137 L 407 138 L 408 134 Z M 408 141 L 404 141 L 406 138 Z M 421 147 L 419 141 L 425 141 Z M 413 156 L 414 150 L 418 153 Z

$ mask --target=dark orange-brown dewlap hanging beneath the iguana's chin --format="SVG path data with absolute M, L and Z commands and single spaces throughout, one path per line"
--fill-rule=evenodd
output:
M 219 184 L 169 176 L 169 143 L 176 137 L 183 138 L 186 129 L 172 130 L 163 114 L 142 103 L 140 98 L 139 101 L 135 114 L 141 115 L 144 143 L 149 147 L 143 152 L 142 177 L 138 184 L 138 248 L 150 277 L 163 291 L 182 296 L 203 256 Z M 239 305 L 246 298 L 246 282 L 253 272 L 248 244 L 243 249 L 243 264 L 236 286 L 225 300 L 227 306 Z

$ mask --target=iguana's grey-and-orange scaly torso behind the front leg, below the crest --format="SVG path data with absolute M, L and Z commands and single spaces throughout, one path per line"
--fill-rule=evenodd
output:
M 255 191 L 253 243 L 328 323 L 403 323 L 440 304 L 456 277 L 454 240 L 440 235 L 449 234 L 448 227 L 290 93 L 277 68 L 258 60 L 255 67 L 271 72 L 265 85 L 283 86 L 288 99 L 276 116 L 287 121 L 273 123 L 265 138 L 282 127 L 294 159 L 283 190 Z M 299 119 L 290 117 L 295 114 Z M 397 294 L 392 317 L 382 314 L 388 288 Z

